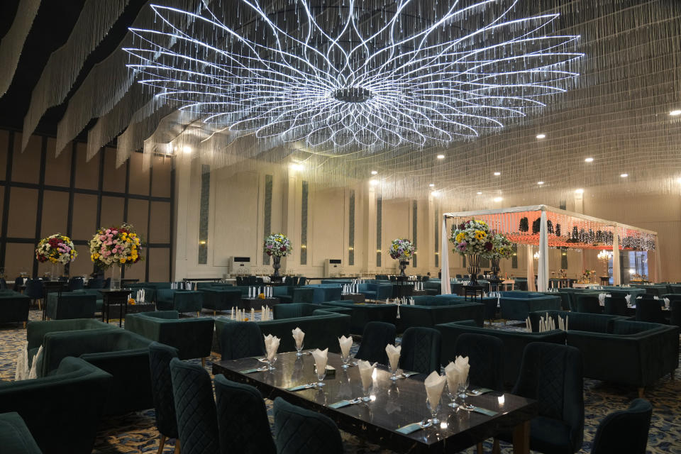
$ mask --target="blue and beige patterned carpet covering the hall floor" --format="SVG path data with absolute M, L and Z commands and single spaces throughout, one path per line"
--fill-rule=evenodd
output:
M 207 314 L 206 314 L 207 315 Z M 40 319 L 38 311 L 31 311 L 31 320 Z M 260 319 L 260 314 L 256 314 Z M 499 326 L 496 329 L 520 329 L 519 326 Z M 26 342 L 26 332 L 21 325 L 0 325 L 0 380 L 14 379 L 15 362 L 18 352 Z M 356 351 L 358 344 L 353 345 Z M 206 361 L 206 369 L 211 370 L 211 357 Z M 196 360 L 198 363 L 199 360 Z M 665 377 L 655 387 L 646 389 L 646 399 L 653 404 L 653 419 L 650 423 L 648 439 L 648 453 L 653 454 L 681 454 L 681 372 L 677 370 L 675 380 Z M 635 399 L 636 389 L 619 387 L 615 384 L 598 380 L 585 380 L 585 433 L 584 445 L 580 453 L 589 453 L 591 443 L 596 433 L 599 421 L 611 411 L 625 409 L 632 399 Z M 270 423 L 272 423 L 272 402 L 266 401 Z M 133 414 L 117 416 L 101 421 L 93 453 L 156 453 L 158 450 L 159 434 L 154 424 L 154 412 L 139 411 Z M 173 452 L 174 441 L 166 444 L 165 453 Z M 380 446 L 363 443 L 355 436 L 343 433 L 345 453 L 392 453 Z M 485 443 L 485 452 L 492 451 L 492 444 Z M 466 451 L 473 453 L 471 448 Z M 511 453 L 509 445 L 502 443 L 502 453 Z

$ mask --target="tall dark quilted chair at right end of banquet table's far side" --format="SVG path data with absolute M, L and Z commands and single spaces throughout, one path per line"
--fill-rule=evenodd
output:
M 567 426 L 571 451 L 576 452 L 584 439 L 583 386 L 580 350 L 569 345 L 532 342 L 523 351 L 520 375 L 511 393 L 536 399 L 539 416 Z

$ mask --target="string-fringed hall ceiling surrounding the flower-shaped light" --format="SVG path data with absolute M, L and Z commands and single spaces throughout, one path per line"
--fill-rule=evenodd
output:
M 115 87 L 103 87 L 101 99 L 99 92 L 91 91 L 90 96 L 78 94 L 81 87 L 88 87 L 88 83 L 83 82 L 94 65 L 114 52 L 121 52 L 118 48 L 126 43 L 126 28 L 135 18 L 140 21 L 149 12 L 143 2 L 131 3 L 134 5 L 123 9 L 109 33 L 84 60 L 66 101 L 46 111 L 38 131 L 56 134 L 57 123 L 67 108 L 82 109 L 84 99 L 88 99 L 98 104 L 94 110 L 106 115 L 98 121 L 99 115 L 91 115 L 89 111 L 73 114 L 69 118 L 80 118 L 83 123 L 72 126 L 76 133 L 84 138 L 87 130 L 94 127 L 96 134 L 91 131 L 90 139 L 108 141 L 126 131 L 127 136 L 124 134 L 122 138 L 129 144 L 126 146 L 141 148 L 141 140 L 156 131 L 162 118 L 175 108 L 150 106 L 153 93 L 144 92 L 139 84 L 128 87 L 122 76 L 111 77 Z M 14 16 L 17 4 L 16 0 L 6 0 L 0 5 L 0 35 L 9 29 L 11 21 L 7 18 Z M 23 128 L 23 116 L 42 68 L 50 53 L 66 43 L 84 4 L 86 0 L 43 1 L 23 46 L 11 87 L 0 97 L 0 126 Z M 268 11 L 281 11 L 288 4 L 288 1 L 278 1 Z M 223 18 L 226 23 L 244 23 L 246 32 L 250 30 L 246 28 L 253 26 L 243 16 L 235 19 L 230 16 L 233 11 L 227 11 Z M 501 131 L 445 146 L 417 150 L 389 148 L 335 157 L 314 153 L 300 144 L 285 145 L 284 151 L 281 147 L 272 149 L 250 138 L 214 140 L 216 145 L 209 145 L 212 139 L 201 143 L 196 138 L 183 137 L 182 131 L 203 130 L 192 137 L 204 140 L 216 129 L 204 129 L 200 121 L 193 122 L 196 118 L 184 118 L 157 131 L 156 141 L 160 145 L 170 140 L 169 136 L 179 134 L 176 142 L 193 140 L 196 155 L 216 165 L 218 162 L 245 165 L 241 160 L 218 161 L 215 156 L 220 153 L 248 157 L 248 165 L 260 160 L 284 164 L 295 160 L 305 166 L 304 171 L 309 172 L 311 178 L 328 184 L 375 178 L 387 197 L 423 195 L 433 189 L 461 199 L 470 199 L 479 192 L 489 197 L 504 197 L 531 192 L 567 194 L 579 188 L 608 194 L 677 194 L 681 178 L 681 116 L 669 113 L 681 109 L 681 1 L 521 0 L 516 13 L 520 16 L 560 13 L 553 33 L 580 35 L 576 50 L 585 56 L 571 68 L 581 75 L 566 93 L 550 96 L 545 108 L 509 123 Z M 124 65 L 126 60 L 121 57 L 117 64 L 120 66 L 121 62 Z M 114 65 L 113 62 L 106 64 Z M 123 67 L 123 75 L 124 70 Z M 95 75 L 91 77 L 93 80 Z M 131 99 L 119 94 L 114 96 L 116 89 L 128 93 Z M 71 100 L 76 101 L 69 106 Z M 154 115 L 139 114 L 139 118 L 133 118 L 132 113 L 141 112 L 143 107 Z M 130 113 L 121 114 L 126 109 Z M 131 122 L 134 127 L 126 129 Z M 70 123 L 73 123 L 71 119 Z M 545 137 L 537 138 L 539 134 Z M 96 150 L 95 147 L 93 153 Z M 436 157 L 440 154 L 444 159 Z M 585 162 L 587 157 L 593 161 Z M 376 170 L 378 175 L 372 177 L 371 170 Z M 623 174 L 627 176 L 621 177 Z M 543 184 L 539 185 L 540 181 Z

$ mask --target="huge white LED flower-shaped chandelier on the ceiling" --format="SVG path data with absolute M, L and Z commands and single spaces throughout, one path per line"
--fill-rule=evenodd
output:
M 528 0 L 529 1 L 529 0 Z M 312 150 L 438 145 L 502 128 L 577 77 L 577 36 L 519 0 L 151 6 L 128 65 L 207 123 Z

